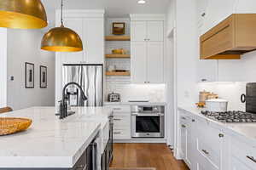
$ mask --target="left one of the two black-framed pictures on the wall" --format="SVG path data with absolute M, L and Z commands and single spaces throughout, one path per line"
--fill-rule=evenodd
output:
M 25 63 L 25 88 L 35 87 L 35 68 L 32 63 Z

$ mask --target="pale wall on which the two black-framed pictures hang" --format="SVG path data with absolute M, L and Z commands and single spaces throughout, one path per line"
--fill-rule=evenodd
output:
M 55 105 L 55 53 L 40 49 L 43 35 L 41 30 L 8 30 L 8 105 L 15 110 Z M 35 66 L 35 88 L 25 88 L 25 62 Z M 48 88 L 39 88 L 39 65 L 48 68 Z

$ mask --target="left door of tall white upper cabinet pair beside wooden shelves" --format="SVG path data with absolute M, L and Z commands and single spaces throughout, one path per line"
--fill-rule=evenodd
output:
M 131 42 L 131 82 L 147 82 L 146 42 Z

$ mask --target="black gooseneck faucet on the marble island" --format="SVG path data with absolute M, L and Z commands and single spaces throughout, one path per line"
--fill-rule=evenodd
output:
M 66 88 L 70 85 L 75 85 L 79 88 L 81 95 L 82 95 L 82 99 L 85 101 L 87 99 L 87 97 L 84 94 L 83 89 L 81 88 L 81 86 L 77 83 L 77 82 L 68 82 L 63 90 L 62 90 L 62 100 L 61 100 L 61 104 L 60 104 L 60 119 L 63 119 L 67 116 L 69 116 L 70 114 L 68 114 L 67 112 L 67 98 L 66 98 Z

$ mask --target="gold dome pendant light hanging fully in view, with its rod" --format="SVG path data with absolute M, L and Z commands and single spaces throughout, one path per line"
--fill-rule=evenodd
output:
M 61 26 L 50 29 L 44 35 L 41 49 L 55 52 L 77 52 L 83 50 L 83 42 L 79 35 L 63 25 L 63 0 L 61 0 Z

